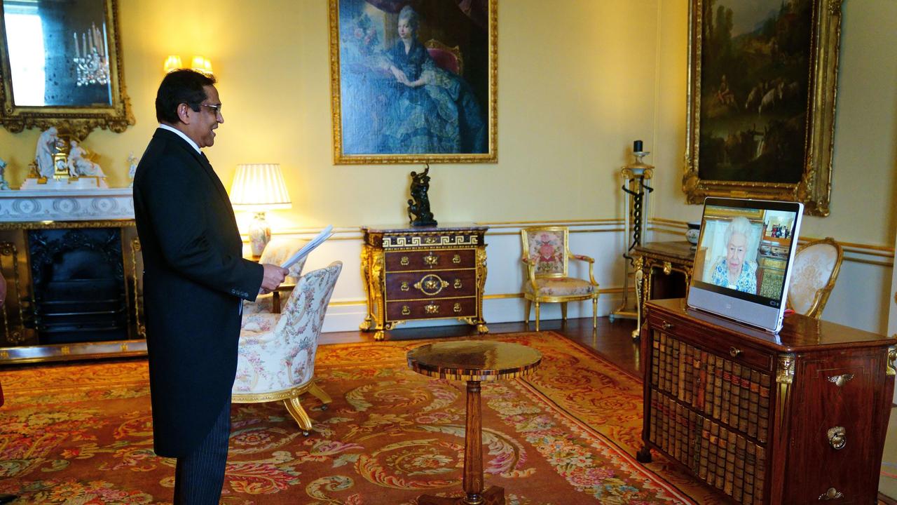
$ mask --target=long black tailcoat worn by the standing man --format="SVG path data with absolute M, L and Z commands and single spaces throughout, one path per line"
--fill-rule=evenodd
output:
M 185 456 L 228 402 L 239 305 L 264 269 L 242 258 L 237 222 L 205 156 L 159 128 L 134 179 L 156 454 Z

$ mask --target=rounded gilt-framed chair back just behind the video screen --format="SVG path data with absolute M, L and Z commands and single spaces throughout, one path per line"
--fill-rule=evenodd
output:
M 832 237 L 798 247 L 788 281 L 786 306 L 797 314 L 819 319 L 838 279 L 843 254 L 840 244 Z

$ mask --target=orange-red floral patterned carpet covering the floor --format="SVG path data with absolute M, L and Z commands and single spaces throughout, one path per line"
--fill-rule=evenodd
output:
M 489 337 L 542 351 L 523 380 L 483 383 L 486 485 L 510 504 L 720 503 L 640 447 L 641 385 L 552 332 Z M 222 503 L 414 504 L 459 496 L 465 386 L 407 369 L 425 341 L 327 345 L 316 377 L 327 410 L 303 397 L 301 435 L 283 403 L 234 404 Z M 152 453 L 142 359 L 0 372 L 0 492 L 19 503 L 166 503 L 174 460 Z

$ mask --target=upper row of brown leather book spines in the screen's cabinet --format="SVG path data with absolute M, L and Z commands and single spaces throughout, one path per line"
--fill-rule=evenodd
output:
M 651 385 L 761 443 L 770 420 L 769 374 L 665 333 L 655 335 Z

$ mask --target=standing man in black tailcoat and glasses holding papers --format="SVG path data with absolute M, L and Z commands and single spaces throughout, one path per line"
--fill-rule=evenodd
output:
M 178 458 L 179 504 L 221 497 L 242 299 L 277 288 L 289 273 L 243 259 L 231 201 L 200 151 L 224 122 L 214 83 L 192 70 L 165 76 L 160 127 L 134 179 L 153 444 L 157 455 Z

